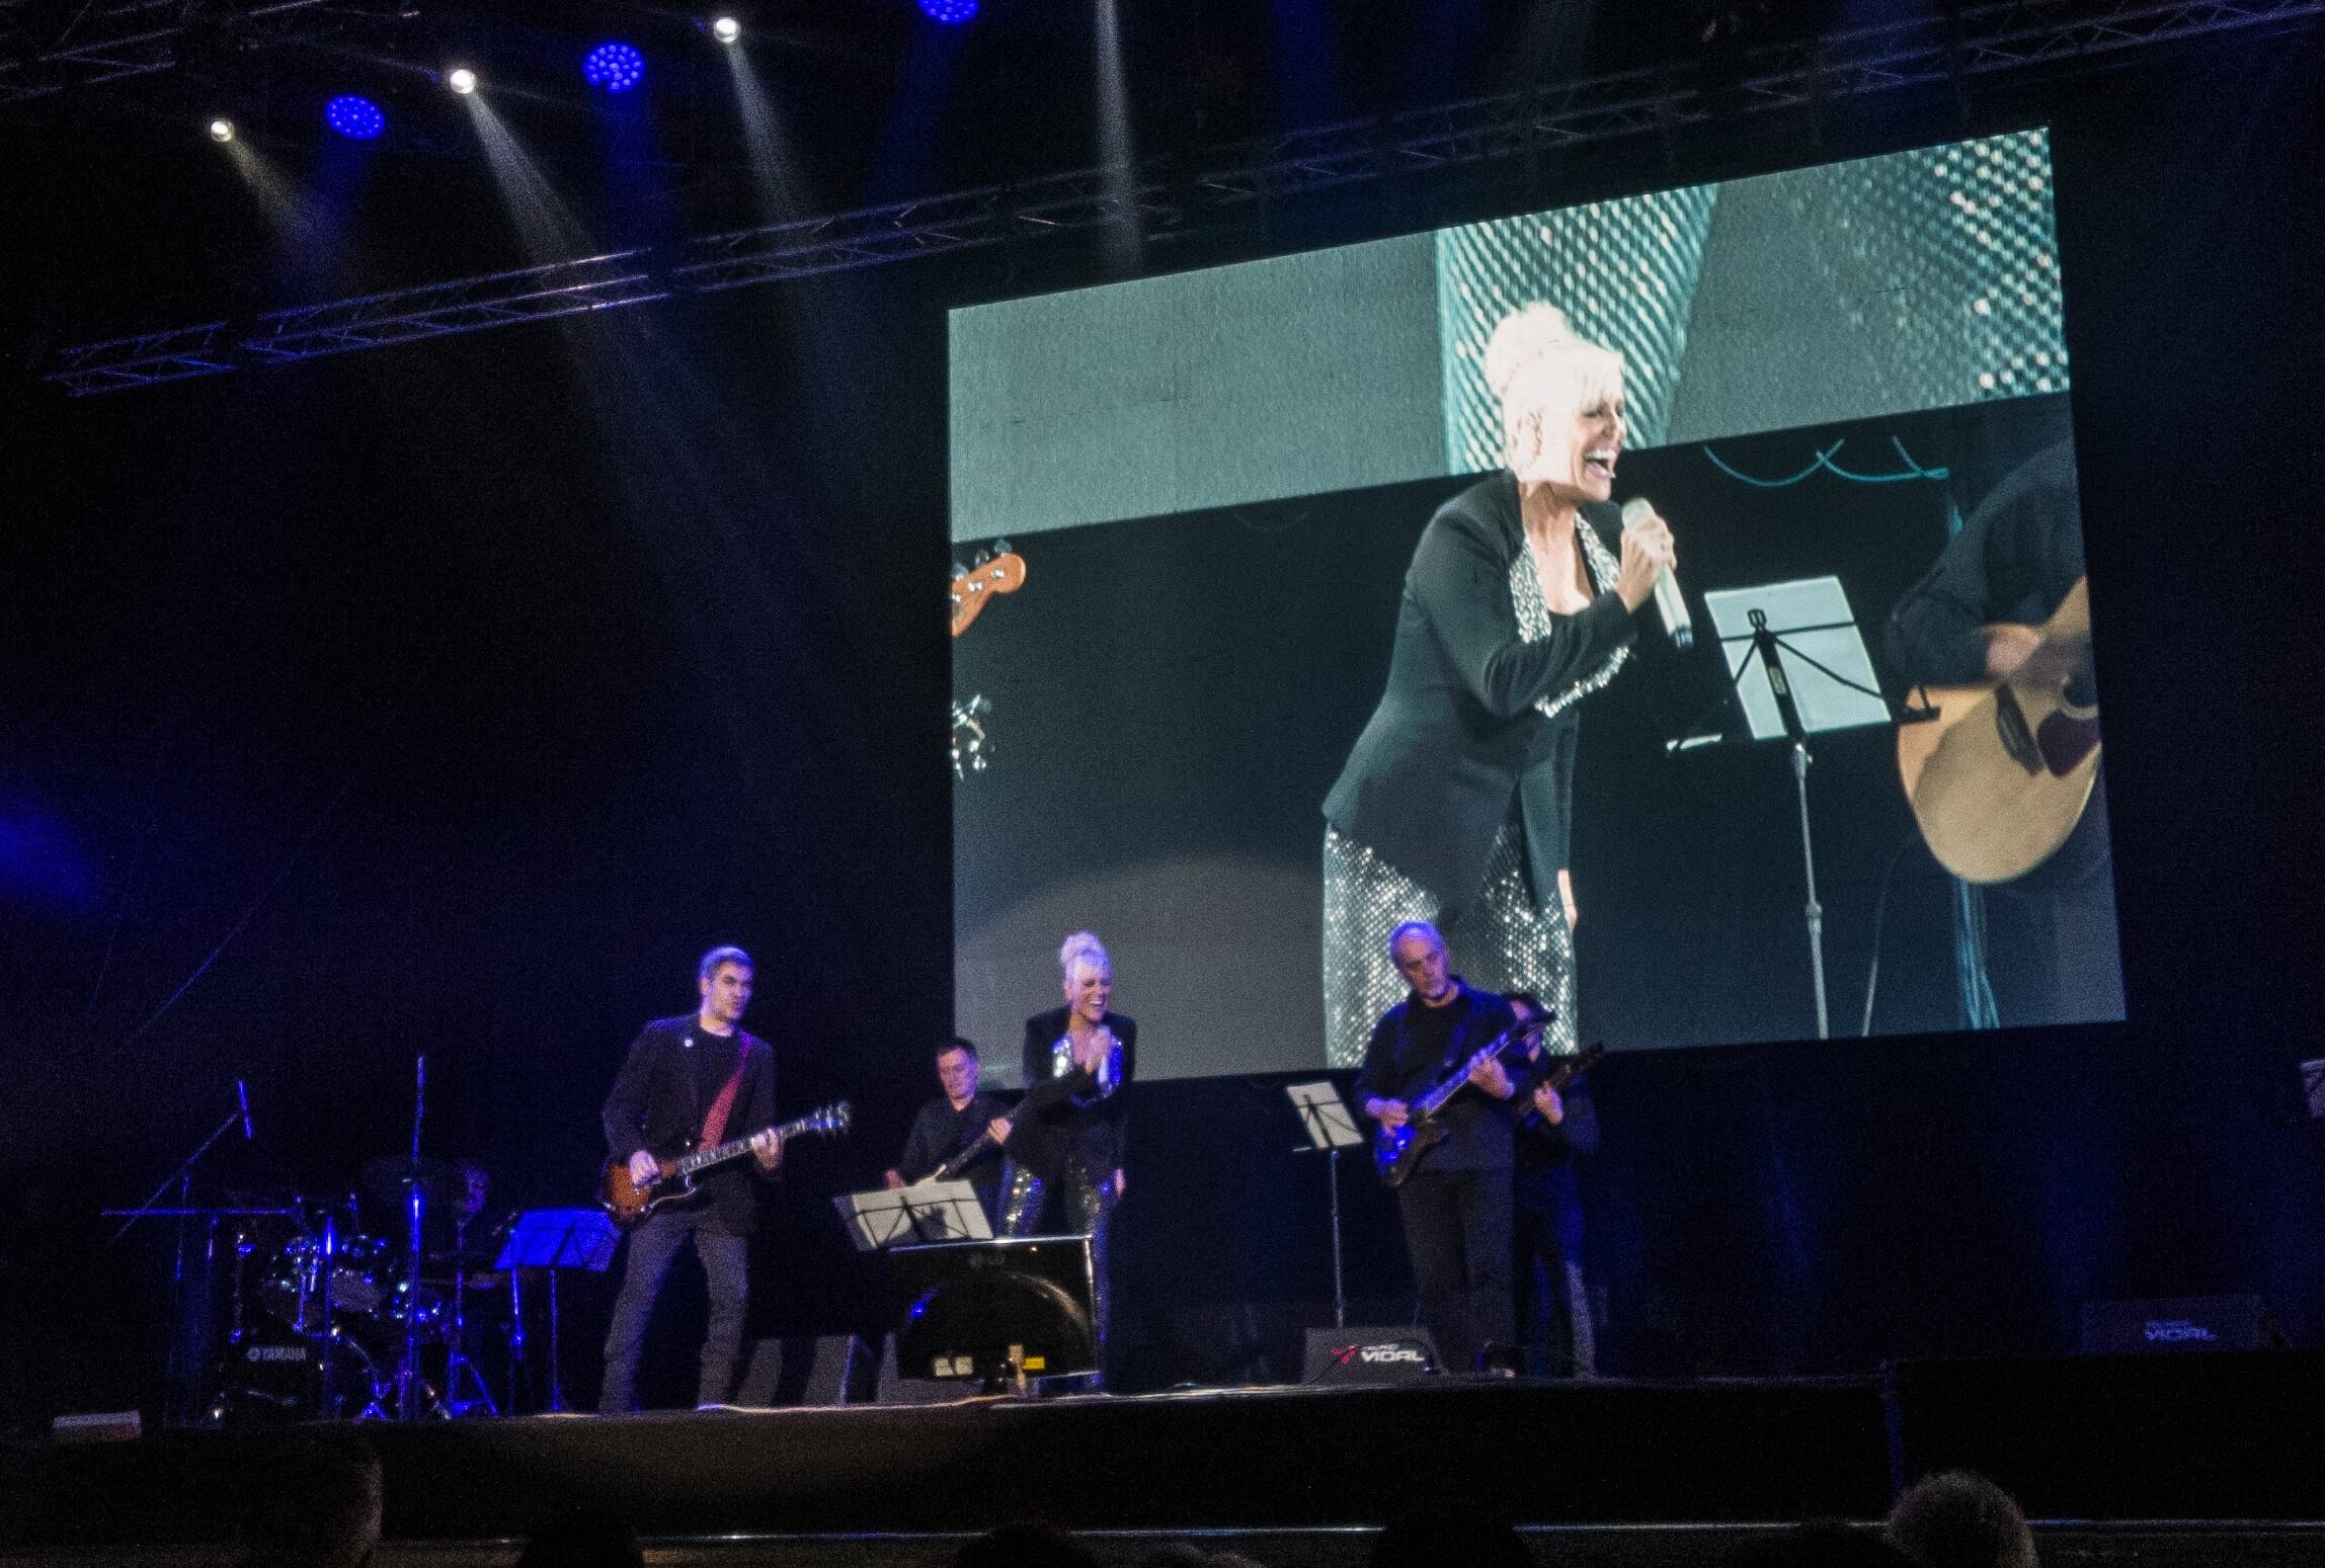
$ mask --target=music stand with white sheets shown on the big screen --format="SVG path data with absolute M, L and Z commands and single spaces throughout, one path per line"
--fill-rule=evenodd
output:
M 1888 725 L 1897 715 L 1881 695 L 1872 655 L 1858 632 L 1848 592 L 1837 576 L 1811 576 L 1758 588 L 1721 588 L 1704 595 L 1704 609 L 1721 634 L 1727 660 L 1727 690 L 1744 709 L 1753 741 L 1783 736 L 1793 746 L 1793 785 L 1800 794 L 1800 862 L 1809 899 L 1809 978 L 1816 990 L 1816 1038 L 1830 1038 L 1825 1010 L 1825 906 L 1816 901 L 1816 836 L 1809 827 L 1809 736 L 1827 729 Z M 1786 655 L 1793 655 L 1786 662 Z M 1744 671 L 1760 664 L 1767 681 L 1746 681 Z M 1690 729 L 1700 729 L 1690 725 Z M 1711 743 L 1688 734 L 1667 741 L 1665 750 L 1690 750 Z

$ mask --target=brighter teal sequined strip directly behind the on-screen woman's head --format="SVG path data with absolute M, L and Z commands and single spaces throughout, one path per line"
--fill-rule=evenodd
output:
M 1716 197 L 1693 186 L 1437 235 L 1451 472 L 1502 467 L 1502 416 L 1479 367 L 1495 325 L 1535 300 L 1623 355 L 1630 444 L 1662 444 Z

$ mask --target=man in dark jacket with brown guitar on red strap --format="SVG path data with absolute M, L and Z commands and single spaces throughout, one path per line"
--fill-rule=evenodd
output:
M 742 1029 L 751 1006 L 751 955 L 711 948 L 695 973 L 702 1006 L 679 1017 L 646 1024 L 604 1099 L 604 1148 L 630 1164 L 630 1180 L 649 1185 L 660 1161 L 695 1143 L 718 1143 L 746 1127 L 774 1122 L 774 1052 L 767 1041 Z M 714 1115 L 716 1113 L 716 1115 Z M 760 1173 L 784 1159 L 770 1131 L 751 1143 Z M 646 1343 L 646 1319 L 672 1259 L 691 1236 L 709 1280 L 711 1322 L 702 1336 L 702 1375 L 695 1405 L 723 1405 L 735 1391 L 735 1357 L 742 1352 L 742 1312 L 749 1292 L 746 1236 L 758 1222 L 751 1173 L 716 1171 L 702 1178 L 702 1201 L 663 1208 L 630 1231 L 630 1259 L 614 1301 L 614 1324 L 604 1336 L 604 1387 L 600 1415 L 621 1415 L 635 1403 L 637 1354 Z

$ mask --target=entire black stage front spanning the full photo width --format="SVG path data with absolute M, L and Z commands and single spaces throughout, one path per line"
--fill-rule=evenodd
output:
M 2325 1354 L 1909 1364 L 1890 1378 L 1418 1382 L 365 1426 L 395 1540 L 1379 1524 L 1479 1477 L 1525 1524 L 1876 1519 L 1972 1466 L 2048 1519 L 2325 1519 Z M 216 1542 L 279 1433 L 7 1456 L 0 1547 Z M 2313 1542 L 2302 1542 L 2306 1552 Z

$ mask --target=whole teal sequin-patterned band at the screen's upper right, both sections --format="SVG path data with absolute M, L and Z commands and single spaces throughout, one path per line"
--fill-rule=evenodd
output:
M 1446 467 L 1500 467 L 1532 300 L 1623 353 L 1632 446 L 2062 393 L 2055 235 L 2041 130 L 1444 230 Z

